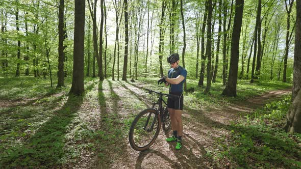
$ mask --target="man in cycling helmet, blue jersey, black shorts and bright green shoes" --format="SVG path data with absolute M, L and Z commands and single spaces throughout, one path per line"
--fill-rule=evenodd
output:
M 183 84 L 186 80 L 187 71 L 179 65 L 180 57 L 178 53 L 172 53 L 167 57 L 167 62 L 170 64 L 171 69 L 168 70 L 168 76 L 162 77 L 159 82 L 169 85 L 169 94 L 178 95 L 179 98 L 168 97 L 167 108 L 170 114 L 171 127 L 173 135 L 166 138 L 167 142 L 177 142 L 175 149 L 182 148 L 182 112 L 183 112 Z

